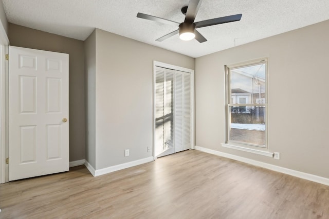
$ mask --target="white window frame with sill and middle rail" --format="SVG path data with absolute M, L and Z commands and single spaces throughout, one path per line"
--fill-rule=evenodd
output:
M 243 143 L 243 142 L 235 142 L 230 141 L 230 123 L 231 123 L 231 116 L 230 116 L 230 107 L 231 106 L 240 106 L 236 103 L 230 103 L 231 101 L 231 78 L 230 78 L 230 71 L 236 68 L 242 68 L 242 67 L 248 67 L 248 66 L 254 66 L 257 64 L 265 64 L 265 104 L 244 104 L 244 106 L 265 106 L 265 145 L 254 145 L 251 143 Z M 238 64 L 232 64 L 225 66 L 225 89 L 226 89 L 226 95 L 225 95 L 225 117 L 226 117 L 226 141 L 225 144 L 222 144 L 223 147 L 252 152 L 256 154 L 261 154 L 265 156 L 272 157 L 273 153 L 268 152 L 269 146 L 268 146 L 268 58 L 261 58 L 261 59 L 255 59 L 253 61 L 238 63 Z M 252 95 L 252 94 L 251 94 Z M 237 100 L 236 100 L 237 101 Z

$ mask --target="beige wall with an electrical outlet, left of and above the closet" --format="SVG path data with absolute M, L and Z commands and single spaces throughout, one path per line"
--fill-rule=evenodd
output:
M 96 29 L 96 170 L 152 156 L 154 60 L 194 69 L 194 58 Z

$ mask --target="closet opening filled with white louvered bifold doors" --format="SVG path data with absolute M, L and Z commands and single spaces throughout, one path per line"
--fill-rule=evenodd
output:
M 194 149 L 194 70 L 154 62 L 154 157 Z

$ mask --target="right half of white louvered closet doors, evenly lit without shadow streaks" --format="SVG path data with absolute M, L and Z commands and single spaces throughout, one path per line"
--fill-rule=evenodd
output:
M 175 71 L 175 152 L 191 148 L 191 74 Z

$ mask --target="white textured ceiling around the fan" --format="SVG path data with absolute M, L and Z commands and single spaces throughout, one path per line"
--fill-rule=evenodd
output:
M 199 28 L 208 41 L 155 39 L 177 27 L 137 18 L 137 12 L 183 22 L 189 0 L 3 0 L 8 22 L 85 40 L 94 28 L 191 57 L 256 41 L 329 19 L 329 0 L 204 0 L 195 22 L 242 13 L 239 22 Z

